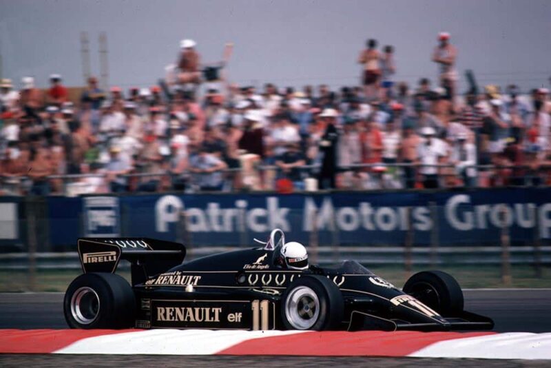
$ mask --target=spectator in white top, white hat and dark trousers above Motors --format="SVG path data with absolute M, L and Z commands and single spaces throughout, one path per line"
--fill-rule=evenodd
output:
M 432 127 L 422 129 L 423 141 L 417 147 L 417 156 L 421 163 L 421 174 L 423 175 L 423 185 L 425 189 L 439 187 L 438 165 L 446 156 L 446 147 L 444 142 L 435 138 L 435 130 Z

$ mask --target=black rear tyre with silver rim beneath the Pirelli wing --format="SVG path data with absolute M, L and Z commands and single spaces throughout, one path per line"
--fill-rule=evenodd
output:
M 116 274 L 82 274 L 69 285 L 63 300 L 65 320 L 71 328 L 133 327 L 135 309 L 132 287 Z

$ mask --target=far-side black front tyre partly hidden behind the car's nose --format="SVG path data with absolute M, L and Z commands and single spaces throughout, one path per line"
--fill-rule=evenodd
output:
M 409 278 L 403 291 L 442 316 L 453 316 L 463 311 L 461 287 L 457 280 L 446 272 L 419 272 Z

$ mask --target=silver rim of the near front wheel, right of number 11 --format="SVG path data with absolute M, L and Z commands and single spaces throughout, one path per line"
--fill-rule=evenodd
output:
M 285 316 L 295 329 L 310 329 L 320 316 L 320 300 L 306 286 L 295 287 L 285 301 Z

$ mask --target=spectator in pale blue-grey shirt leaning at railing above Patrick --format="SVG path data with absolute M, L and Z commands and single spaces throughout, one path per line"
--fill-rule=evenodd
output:
M 199 189 L 207 192 L 219 192 L 224 185 L 221 170 L 227 165 L 214 154 L 207 152 L 206 147 L 200 147 L 198 154 L 189 159 L 189 171 L 194 173 L 194 182 Z

